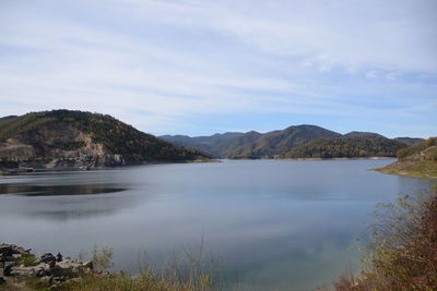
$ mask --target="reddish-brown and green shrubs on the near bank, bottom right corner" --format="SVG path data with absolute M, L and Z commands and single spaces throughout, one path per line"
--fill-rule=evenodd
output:
M 381 206 L 364 270 L 342 276 L 336 290 L 437 290 L 437 189 Z

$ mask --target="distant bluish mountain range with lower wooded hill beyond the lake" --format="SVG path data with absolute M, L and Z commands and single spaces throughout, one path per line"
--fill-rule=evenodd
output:
M 259 133 L 228 132 L 211 136 L 162 135 L 177 146 L 201 150 L 214 158 L 340 158 L 395 157 L 397 150 L 422 138 L 387 138 L 373 132 L 340 134 L 317 125 L 294 125 Z

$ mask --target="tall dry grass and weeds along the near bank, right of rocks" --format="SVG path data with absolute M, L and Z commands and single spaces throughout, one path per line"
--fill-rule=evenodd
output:
M 174 254 L 160 268 L 149 263 L 141 264 L 138 276 L 123 271 L 108 272 L 113 252 L 107 247 L 93 247 L 92 262 L 96 271 L 61 286 L 60 290 L 73 291 L 208 291 L 221 290 L 223 278 L 218 274 L 220 263 L 213 255 L 205 255 L 203 242 L 196 248 L 182 248 Z

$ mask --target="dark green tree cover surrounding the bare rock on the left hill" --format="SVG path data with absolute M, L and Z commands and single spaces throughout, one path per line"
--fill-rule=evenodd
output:
M 43 126 L 49 124 L 75 128 L 91 136 L 95 143 L 103 144 L 110 153 L 122 155 L 127 162 L 184 161 L 208 158 L 200 151 L 176 147 L 153 135 L 140 132 L 110 116 L 71 110 L 31 112 L 21 117 L 2 118 L 0 119 L 0 143 L 10 137 L 19 137 L 20 140 L 20 136 L 24 134 L 32 137 Z M 33 138 L 26 138 L 25 142 L 35 148 L 46 146 Z M 74 150 L 84 145 L 84 142 L 71 141 L 58 142 L 47 146 Z

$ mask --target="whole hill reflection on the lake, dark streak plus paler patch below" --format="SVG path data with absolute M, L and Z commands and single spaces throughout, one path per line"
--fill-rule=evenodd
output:
M 0 184 L 1 194 L 13 194 L 0 213 L 51 222 L 108 217 L 138 205 L 140 196 L 127 190 L 117 184 Z

